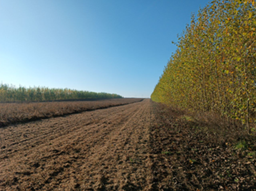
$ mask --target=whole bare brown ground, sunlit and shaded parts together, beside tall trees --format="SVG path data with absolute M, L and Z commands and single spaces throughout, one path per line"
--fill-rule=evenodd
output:
M 149 99 L 12 125 L 0 190 L 256 190 L 255 139 Z

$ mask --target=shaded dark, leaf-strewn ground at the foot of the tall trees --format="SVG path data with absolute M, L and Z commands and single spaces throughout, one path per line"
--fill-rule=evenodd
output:
M 256 135 L 153 104 L 154 190 L 256 190 Z

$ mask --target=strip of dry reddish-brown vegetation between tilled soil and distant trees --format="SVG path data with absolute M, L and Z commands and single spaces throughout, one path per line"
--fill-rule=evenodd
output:
M 124 98 L 77 102 L 0 103 L 0 127 L 83 111 L 126 105 L 142 100 L 143 99 Z

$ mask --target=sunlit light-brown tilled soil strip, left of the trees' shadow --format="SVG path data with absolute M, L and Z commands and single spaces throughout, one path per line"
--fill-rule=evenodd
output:
M 151 117 L 146 99 L 0 129 L 0 190 L 150 190 Z

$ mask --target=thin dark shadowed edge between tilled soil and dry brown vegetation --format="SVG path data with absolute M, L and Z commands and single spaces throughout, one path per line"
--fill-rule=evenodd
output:
M 105 100 L 110 100 L 110 99 L 101 99 L 100 101 L 105 101 Z M 68 115 L 77 114 L 77 113 L 86 112 L 86 111 L 94 111 L 94 110 L 98 110 L 98 109 L 107 109 L 107 108 L 111 108 L 111 107 L 118 107 L 118 106 L 133 104 L 133 103 L 137 103 L 137 102 L 142 102 L 143 100 L 144 99 L 134 101 L 134 102 L 130 102 L 130 103 L 123 103 L 123 104 L 117 104 L 117 105 L 100 106 L 100 107 L 97 107 L 97 108 L 86 108 L 86 109 L 81 109 L 81 110 L 74 110 L 72 112 L 60 113 L 60 114 L 52 113 L 50 115 L 44 115 L 44 116 L 32 116 L 32 117 L 29 117 L 29 118 L 27 117 L 27 118 L 22 118 L 22 119 L 17 119 L 16 118 L 15 119 L 16 121 L 7 121 L 7 122 L 0 121 L 0 128 L 7 127 L 9 125 L 26 124 L 26 123 L 29 123 L 29 122 L 45 120 L 45 119 L 48 119 L 48 118 L 68 116 Z M 92 101 L 92 100 L 90 100 L 90 101 Z M 56 101 L 56 102 L 60 102 L 60 101 Z

